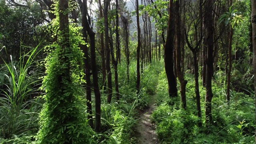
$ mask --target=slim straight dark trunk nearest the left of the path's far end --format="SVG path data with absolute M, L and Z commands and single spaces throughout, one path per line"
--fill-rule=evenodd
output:
M 137 94 L 140 92 L 140 20 L 139 20 L 139 2 L 136 0 L 136 21 L 138 28 L 138 46 L 137 46 L 137 80 L 136 80 L 136 90 Z

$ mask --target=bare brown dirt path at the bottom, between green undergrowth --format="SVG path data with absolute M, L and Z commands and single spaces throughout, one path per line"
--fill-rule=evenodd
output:
M 149 108 L 140 114 L 137 132 L 138 144 L 158 144 L 155 126 L 150 122 L 150 115 L 156 106 L 150 104 Z

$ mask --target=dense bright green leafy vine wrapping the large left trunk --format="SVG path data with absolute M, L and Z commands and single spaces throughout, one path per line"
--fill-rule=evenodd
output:
M 58 12 L 58 7 L 55 6 Z M 95 132 L 88 127 L 85 104 L 80 100 L 81 80 L 83 70 L 83 53 L 78 44 L 84 44 L 81 34 L 74 25 L 69 26 L 69 47 L 60 46 L 63 35 L 58 31 L 58 14 L 51 22 L 51 30 L 58 36 L 58 40 L 46 47 L 48 53 L 45 59 L 46 76 L 42 82 L 42 88 L 46 95 L 42 98 L 46 101 L 40 112 L 40 130 L 38 142 L 40 144 L 93 144 Z M 64 38 L 65 39 L 65 38 Z

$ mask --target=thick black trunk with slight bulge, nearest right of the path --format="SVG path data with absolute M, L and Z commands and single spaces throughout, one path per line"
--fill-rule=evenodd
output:
M 174 62 L 173 62 L 173 49 L 174 49 L 174 7 L 173 0 L 169 3 L 169 20 L 167 28 L 166 43 L 164 44 L 164 68 L 168 81 L 168 93 L 170 98 L 176 97 L 178 94 L 176 78 L 174 76 Z

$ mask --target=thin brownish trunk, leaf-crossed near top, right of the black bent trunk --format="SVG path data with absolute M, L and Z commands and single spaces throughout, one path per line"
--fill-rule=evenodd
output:
M 99 0 L 99 11 L 100 11 L 100 18 L 103 18 L 102 14 L 102 4 L 101 0 Z M 106 89 L 106 62 L 105 62 L 105 50 L 104 50 L 104 32 L 100 32 L 100 56 L 101 56 L 101 68 L 102 68 L 102 85 L 103 90 Z

